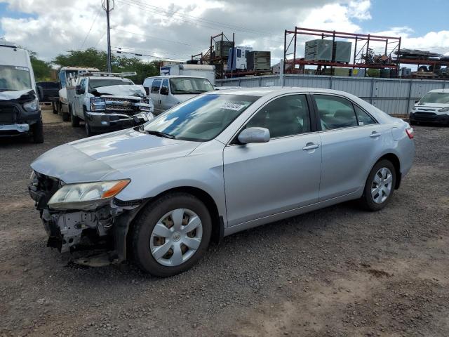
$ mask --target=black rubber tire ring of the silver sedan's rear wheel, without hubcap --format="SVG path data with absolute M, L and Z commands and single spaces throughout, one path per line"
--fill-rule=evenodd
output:
M 373 187 L 375 174 L 382 168 L 389 169 L 391 172 L 391 190 L 389 192 L 389 195 L 387 196 L 387 199 L 382 201 L 382 203 L 377 204 L 373 196 L 371 195 L 371 188 Z M 373 169 L 371 169 L 370 174 L 368 175 L 368 179 L 366 179 L 365 189 L 363 190 L 363 195 L 360 199 L 361 205 L 364 209 L 367 209 L 368 211 L 379 211 L 383 209 L 387 204 L 389 203 L 391 197 L 394 193 L 394 187 L 396 186 L 396 169 L 394 169 L 394 165 L 391 163 L 391 161 L 387 159 L 382 159 L 380 161 L 377 161 L 375 166 L 373 166 Z

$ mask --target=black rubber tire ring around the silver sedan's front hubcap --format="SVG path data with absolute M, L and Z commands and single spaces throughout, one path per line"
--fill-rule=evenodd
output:
M 194 254 L 180 265 L 169 267 L 161 265 L 152 256 L 150 250 L 150 237 L 156 223 L 164 216 L 164 214 L 175 209 L 189 209 L 196 213 L 203 226 L 203 235 L 199 248 Z M 172 193 L 153 201 L 151 204 L 145 206 L 142 213 L 135 220 L 131 249 L 133 257 L 137 265 L 145 272 L 156 277 L 170 277 L 185 272 L 195 263 L 197 263 L 206 252 L 210 242 L 210 234 L 212 232 L 212 220 L 208 209 L 204 204 L 187 193 Z

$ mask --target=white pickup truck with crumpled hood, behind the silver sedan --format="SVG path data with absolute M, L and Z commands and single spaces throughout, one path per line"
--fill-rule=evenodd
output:
M 145 123 L 154 118 L 152 99 L 138 86 L 123 76 L 92 72 L 77 79 L 73 89 L 67 89 L 72 126 L 84 121 L 86 135 L 116 131 Z

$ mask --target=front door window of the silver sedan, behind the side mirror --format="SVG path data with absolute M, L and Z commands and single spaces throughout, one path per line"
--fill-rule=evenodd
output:
M 246 124 L 268 128 L 271 138 L 310 132 L 309 107 L 305 95 L 288 95 L 268 103 Z

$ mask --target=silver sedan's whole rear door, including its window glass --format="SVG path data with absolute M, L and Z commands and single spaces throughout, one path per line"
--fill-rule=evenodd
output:
M 382 153 L 384 128 L 342 96 L 314 94 L 314 102 L 323 155 L 319 200 L 360 191 Z

